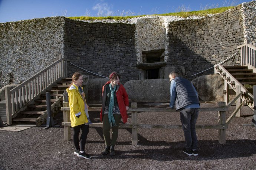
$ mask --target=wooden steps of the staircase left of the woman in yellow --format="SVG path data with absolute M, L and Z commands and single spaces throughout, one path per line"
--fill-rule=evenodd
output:
M 62 78 L 57 85 L 53 85 L 46 92 L 50 92 L 50 102 L 52 109 L 52 116 L 56 115 L 62 107 L 63 92 L 71 84 L 72 78 Z M 46 122 L 47 110 L 46 110 L 46 94 L 40 94 L 40 99 L 36 99 L 31 105 L 27 105 L 24 111 L 20 112 L 13 122 L 35 122 L 36 126 L 42 125 Z

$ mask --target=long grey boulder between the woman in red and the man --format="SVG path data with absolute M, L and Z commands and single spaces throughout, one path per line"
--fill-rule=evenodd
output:
M 169 79 L 130 80 L 124 87 L 133 102 L 170 102 Z

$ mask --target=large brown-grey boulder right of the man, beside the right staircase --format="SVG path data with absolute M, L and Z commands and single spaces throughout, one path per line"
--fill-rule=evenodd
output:
M 191 83 L 202 101 L 224 101 L 224 79 L 219 74 L 203 75 Z

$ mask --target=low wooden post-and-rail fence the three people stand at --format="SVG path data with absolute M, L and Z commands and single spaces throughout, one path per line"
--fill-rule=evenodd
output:
M 226 111 L 228 110 L 231 103 L 234 103 L 237 99 L 240 100 L 242 92 L 238 93 L 232 101 L 229 102 L 229 105 L 226 106 L 225 102 L 219 102 L 219 107 L 216 108 L 199 108 L 200 112 L 219 112 L 219 124 L 217 125 L 196 125 L 197 129 L 219 129 L 219 143 L 226 143 L 226 129 L 227 125 L 233 119 L 234 115 L 238 112 L 241 105 L 232 113 L 232 115 L 226 121 Z M 64 140 L 70 140 L 70 112 L 69 112 L 69 103 L 63 103 L 63 122 L 64 126 Z M 101 111 L 101 108 L 88 108 L 89 111 Z M 131 108 L 128 112 L 131 112 L 132 123 L 120 124 L 119 128 L 132 128 L 132 145 L 138 144 L 138 128 L 167 128 L 167 129 L 180 129 L 182 125 L 152 125 L 152 124 L 138 124 L 137 122 L 137 113 L 139 112 L 177 112 L 175 109 L 169 108 L 137 108 L 137 103 L 131 103 Z M 89 126 L 93 127 L 103 127 L 103 123 L 92 123 Z

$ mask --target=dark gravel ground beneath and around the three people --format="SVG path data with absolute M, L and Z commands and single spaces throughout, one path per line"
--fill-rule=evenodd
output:
M 216 104 L 201 104 L 217 107 Z M 234 111 L 231 106 L 228 116 Z M 102 128 L 90 128 L 86 160 L 73 154 L 72 141 L 63 140 L 63 127 L 43 129 L 33 127 L 21 132 L 0 131 L 0 170 L 9 169 L 255 169 L 255 128 L 242 126 L 252 120 L 252 110 L 242 107 L 242 117 L 234 118 L 226 130 L 226 145 L 219 144 L 217 129 L 197 129 L 199 156 L 182 152 L 182 129 L 138 129 L 138 145 L 131 145 L 131 129 L 119 129 L 116 156 L 102 156 Z M 99 112 L 91 112 L 93 122 L 99 122 Z M 62 113 L 55 122 L 63 121 Z M 217 124 L 217 112 L 200 112 L 198 125 Z M 129 116 L 128 123 L 131 122 Z M 138 122 L 145 124 L 180 124 L 178 112 L 138 113 Z M 71 132 L 72 133 L 72 132 Z

